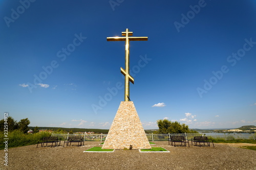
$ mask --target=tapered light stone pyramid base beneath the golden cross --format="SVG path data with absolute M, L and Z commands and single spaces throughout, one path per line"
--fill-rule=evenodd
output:
M 121 102 L 102 149 L 151 149 L 133 102 Z

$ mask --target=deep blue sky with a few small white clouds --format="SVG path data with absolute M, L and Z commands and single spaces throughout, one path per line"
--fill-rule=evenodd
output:
M 130 83 L 144 129 L 256 125 L 255 1 L 1 1 L 0 112 L 30 126 L 109 129 Z M 154 106 L 154 107 L 153 107 Z

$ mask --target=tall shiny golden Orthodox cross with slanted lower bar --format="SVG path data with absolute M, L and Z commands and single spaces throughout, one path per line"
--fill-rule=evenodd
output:
M 125 76 L 124 86 L 124 101 L 130 101 L 130 81 L 134 84 L 134 78 L 130 75 L 129 70 L 129 42 L 130 41 L 147 41 L 147 37 L 129 37 L 132 36 L 133 32 L 129 32 L 126 29 L 122 32 L 122 36 L 125 37 L 107 37 L 107 41 L 125 41 L 125 69 L 121 67 L 121 73 Z

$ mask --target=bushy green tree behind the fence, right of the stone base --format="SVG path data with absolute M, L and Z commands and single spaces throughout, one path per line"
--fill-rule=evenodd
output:
M 180 134 L 180 133 L 198 133 L 193 130 L 189 130 L 188 126 L 185 124 L 180 124 L 179 122 L 171 122 L 170 120 L 163 119 L 163 120 L 157 120 L 157 125 L 159 128 L 160 134 L 166 134 L 166 133 L 174 133 L 174 134 Z

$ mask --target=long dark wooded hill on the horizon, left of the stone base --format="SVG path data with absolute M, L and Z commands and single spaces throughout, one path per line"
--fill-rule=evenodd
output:
M 35 127 L 29 127 L 29 129 L 34 129 Z M 61 129 L 63 131 L 70 132 L 71 130 L 75 132 L 94 132 L 94 133 L 103 133 L 108 134 L 109 129 L 83 129 L 83 128 L 59 128 L 59 127 L 38 127 L 39 130 L 53 130 L 57 131 Z

